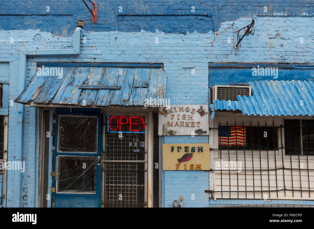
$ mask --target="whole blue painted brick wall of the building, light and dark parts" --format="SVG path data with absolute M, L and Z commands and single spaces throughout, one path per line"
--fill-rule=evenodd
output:
M 163 63 L 167 76 L 165 95 L 171 104 L 207 104 L 208 62 L 313 64 L 313 3 L 97 1 L 98 20 L 92 23 L 81 1 L 0 1 L 0 61 L 10 63 L 9 92 L 10 99 L 14 99 L 18 96 L 19 51 L 72 48 L 73 30 L 76 20 L 80 19 L 85 21 L 82 39 L 86 39 L 86 43 L 81 41 L 81 54 L 29 57 L 27 81 L 36 73 L 36 62 Z M 122 12 L 118 12 L 119 6 Z M 195 12 L 191 12 L 191 6 L 195 6 Z M 264 6 L 268 7 L 268 12 L 263 12 Z M 173 22 L 170 26 L 167 26 L 168 17 Z M 128 20 L 124 20 L 126 18 Z M 152 18 L 158 18 L 157 23 L 152 23 Z M 234 31 L 251 23 L 252 19 L 255 19 L 255 33 L 245 36 L 241 47 L 235 50 Z M 280 35 L 276 36 L 277 33 Z M 10 43 L 11 38 L 13 43 Z M 158 43 L 155 43 L 156 38 Z M 231 43 L 227 42 L 228 38 Z M 300 38 L 304 38 L 304 43 L 300 43 Z M 192 69 L 195 75 L 191 74 Z M 22 205 L 27 207 L 35 206 L 35 118 L 35 108 L 25 107 L 23 155 L 26 170 L 21 174 L 21 196 Z M 208 137 L 164 138 L 164 143 L 185 142 L 208 142 Z M 16 104 L 9 108 L 8 160 L 14 160 L 15 144 Z M 8 170 L 8 207 L 13 205 L 14 178 L 14 171 Z M 164 205 L 169 207 L 172 201 L 183 196 L 185 206 L 209 206 L 208 194 L 204 193 L 208 179 L 207 171 L 165 171 Z M 195 194 L 194 201 L 192 194 Z

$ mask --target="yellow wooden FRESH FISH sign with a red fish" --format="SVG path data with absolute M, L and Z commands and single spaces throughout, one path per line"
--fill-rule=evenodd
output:
M 164 170 L 210 170 L 209 144 L 162 144 Z

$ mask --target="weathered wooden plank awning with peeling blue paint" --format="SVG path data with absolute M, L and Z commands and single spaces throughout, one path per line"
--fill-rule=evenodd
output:
M 164 99 L 165 95 L 162 69 L 71 66 L 46 70 L 37 71 L 14 101 L 30 106 L 143 106 L 144 99 Z

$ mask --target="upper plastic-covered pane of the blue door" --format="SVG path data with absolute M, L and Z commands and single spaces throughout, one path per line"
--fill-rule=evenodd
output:
M 97 117 L 59 116 L 58 152 L 97 152 Z

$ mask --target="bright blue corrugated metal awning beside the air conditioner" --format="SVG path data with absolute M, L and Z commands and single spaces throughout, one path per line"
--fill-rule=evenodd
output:
M 243 115 L 314 115 L 313 81 L 254 81 L 248 82 L 252 87 L 250 96 L 237 96 Z M 233 101 L 214 101 L 215 110 L 239 109 Z M 216 106 L 217 104 L 217 106 Z

